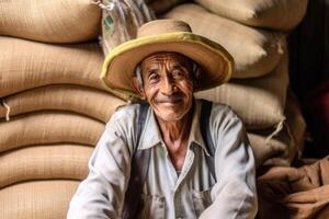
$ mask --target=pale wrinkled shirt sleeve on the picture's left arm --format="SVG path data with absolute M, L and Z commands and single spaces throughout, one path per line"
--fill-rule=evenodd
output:
M 117 112 L 106 124 L 90 160 L 89 174 L 73 195 L 68 219 L 118 218 L 131 173 L 134 128 Z

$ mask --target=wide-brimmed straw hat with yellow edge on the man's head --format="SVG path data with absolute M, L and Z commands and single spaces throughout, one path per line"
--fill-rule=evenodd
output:
M 177 20 L 155 20 L 141 25 L 137 38 L 115 47 L 103 65 L 101 79 L 126 100 L 136 100 L 133 76 L 137 65 L 158 51 L 182 54 L 203 69 L 201 89 L 212 89 L 229 80 L 234 59 L 219 44 L 192 33 L 189 24 Z

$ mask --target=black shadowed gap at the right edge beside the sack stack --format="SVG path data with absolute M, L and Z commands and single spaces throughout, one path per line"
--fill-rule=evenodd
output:
M 324 158 L 329 154 L 329 107 L 313 100 L 326 92 L 328 96 L 329 91 L 328 0 L 308 2 L 304 20 L 288 37 L 288 48 L 291 88 L 299 99 L 310 135 L 304 155 Z

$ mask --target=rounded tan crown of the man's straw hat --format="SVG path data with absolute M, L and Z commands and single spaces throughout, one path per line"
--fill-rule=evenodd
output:
M 152 36 L 159 34 L 168 34 L 174 32 L 192 32 L 189 24 L 183 21 L 178 20 L 155 20 L 148 23 L 145 23 L 138 28 L 137 38 L 145 36 Z

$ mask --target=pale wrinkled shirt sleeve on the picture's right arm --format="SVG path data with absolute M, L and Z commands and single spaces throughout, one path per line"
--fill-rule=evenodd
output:
M 224 112 L 215 108 L 211 130 L 216 145 L 217 183 L 212 189 L 213 204 L 201 218 L 254 218 L 258 209 L 254 158 L 243 125 L 229 107 Z

